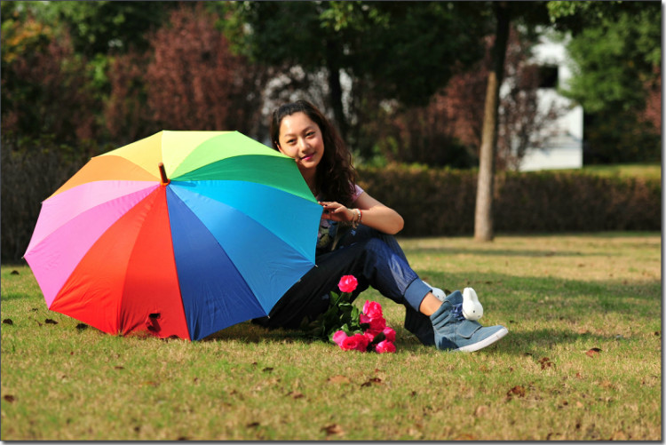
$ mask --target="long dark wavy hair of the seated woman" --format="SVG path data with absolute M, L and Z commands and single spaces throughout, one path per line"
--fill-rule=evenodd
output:
M 294 113 L 305 113 L 321 130 L 324 141 L 324 155 L 317 165 L 317 190 L 324 201 L 337 201 L 345 206 L 352 203 L 356 184 L 356 170 L 352 164 L 352 154 L 340 138 L 336 128 L 326 116 L 307 100 L 297 100 L 274 110 L 271 118 L 271 141 L 279 150 L 280 124 L 282 119 Z

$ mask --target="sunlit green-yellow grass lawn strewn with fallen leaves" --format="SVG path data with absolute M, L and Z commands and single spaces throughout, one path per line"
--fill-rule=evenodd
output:
M 404 239 L 412 266 L 472 286 L 477 353 L 421 346 L 369 290 L 396 354 L 250 323 L 199 342 L 120 338 L 49 311 L 3 266 L 3 441 L 662 440 L 661 234 Z

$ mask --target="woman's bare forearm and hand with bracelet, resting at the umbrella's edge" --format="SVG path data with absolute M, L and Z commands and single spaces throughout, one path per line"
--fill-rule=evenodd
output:
M 366 192 L 361 193 L 356 199 L 353 209 L 348 209 L 340 203 L 321 202 L 321 205 L 324 207 L 323 218 L 334 221 L 353 221 L 357 218 L 357 213 L 353 209 L 359 209 L 363 216 L 361 224 L 385 234 L 397 234 L 405 225 L 400 213 L 386 207 Z

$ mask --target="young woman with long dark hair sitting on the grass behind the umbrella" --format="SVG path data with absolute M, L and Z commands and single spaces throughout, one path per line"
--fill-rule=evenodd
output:
M 268 327 L 297 329 L 326 311 L 329 292 L 340 277 L 353 274 L 353 298 L 369 286 L 407 308 L 405 328 L 424 345 L 476 351 L 508 333 L 503 326 L 483 327 L 468 311 L 460 291 L 444 296 L 418 278 L 394 238 L 404 221 L 356 185 L 352 155 L 329 120 L 311 103 L 298 100 L 277 108 L 271 121 L 273 146 L 296 161 L 305 182 L 324 208 L 317 240 L 316 267 L 278 301 Z M 433 292 L 439 294 L 436 297 Z M 480 310 L 476 294 L 465 305 Z M 476 306 L 473 306 L 473 303 Z

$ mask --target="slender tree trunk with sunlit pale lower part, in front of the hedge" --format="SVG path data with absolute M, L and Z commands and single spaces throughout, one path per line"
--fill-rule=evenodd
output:
M 486 105 L 483 114 L 483 132 L 479 156 L 479 179 L 474 214 L 474 239 L 492 241 L 493 230 L 493 185 L 495 182 L 495 154 L 497 146 L 497 114 L 499 90 L 504 72 L 504 57 L 509 39 L 511 14 L 507 2 L 493 4 L 497 20 L 495 44 L 493 44 L 493 70 L 488 73 Z

